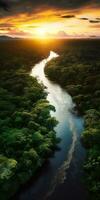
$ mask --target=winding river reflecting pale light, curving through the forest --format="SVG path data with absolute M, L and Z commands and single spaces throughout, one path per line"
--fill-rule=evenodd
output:
M 18 194 L 18 200 L 86 200 L 85 189 L 80 181 L 83 173 L 81 164 L 85 156 L 80 144 L 83 119 L 71 112 L 74 107 L 71 96 L 44 74 L 46 63 L 55 57 L 58 54 L 51 51 L 48 58 L 33 67 L 31 76 L 37 77 L 46 86 L 47 99 L 56 108 L 51 115 L 59 121 L 55 130 L 61 138 L 60 150 L 49 159 L 36 180 Z

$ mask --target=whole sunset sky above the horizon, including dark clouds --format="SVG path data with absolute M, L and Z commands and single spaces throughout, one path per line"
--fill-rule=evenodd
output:
M 100 0 L 0 0 L 0 35 L 100 37 Z

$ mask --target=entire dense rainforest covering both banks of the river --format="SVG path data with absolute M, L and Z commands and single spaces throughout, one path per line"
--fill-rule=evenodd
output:
M 41 44 L 40 44 L 41 43 Z M 100 40 L 0 41 L 0 199 L 7 200 L 43 167 L 60 139 L 43 84 L 30 76 L 50 50 L 60 56 L 45 67 L 48 79 L 73 98 L 84 116 L 84 182 L 100 199 Z

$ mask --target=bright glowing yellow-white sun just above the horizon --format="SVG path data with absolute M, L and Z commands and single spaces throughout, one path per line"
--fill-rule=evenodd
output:
M 47 38 L 47 31 L 45 28 L 37 28 L 36 29 L 36 37 L 41 38 L 41 39 L 45 39 Z

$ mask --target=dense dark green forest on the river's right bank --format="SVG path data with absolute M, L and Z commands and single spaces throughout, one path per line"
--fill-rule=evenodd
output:
M 45 73 L 59 83 L 84 114 L 82 143 L 87 149 L 85 182 L 91 200 L 100 199 L 100 40 L 65 41 L 61 56 L 50 61 Z

